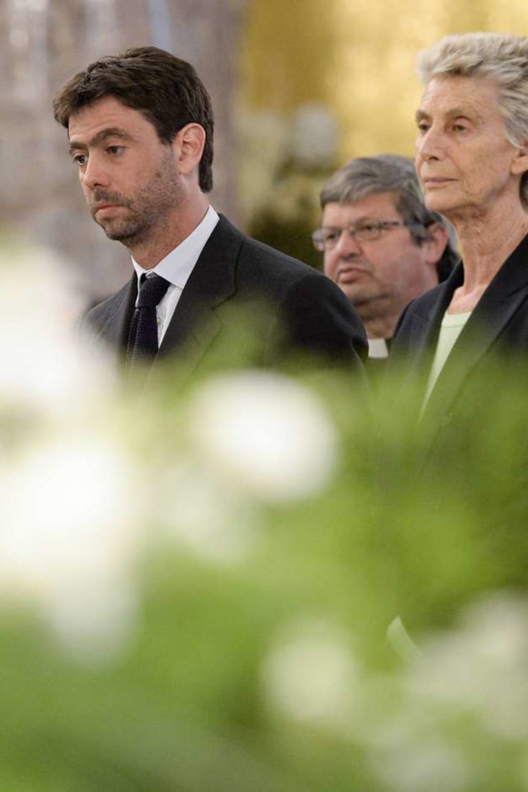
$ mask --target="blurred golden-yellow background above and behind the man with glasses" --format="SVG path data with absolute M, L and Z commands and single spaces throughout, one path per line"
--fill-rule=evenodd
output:
M 522 0 L 256 0 L 245 10 L 238 81 L 241 221 L 319 265 L 309 231 L 333 169 L 412 156 L 418 52 L 447 33 L 528 33 Z

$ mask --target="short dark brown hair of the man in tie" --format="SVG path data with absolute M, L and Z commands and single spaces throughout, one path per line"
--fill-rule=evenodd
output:
M 70 116 L 104 97 L 116 97 L 154 124 L 162 143 L 172 143 L 186 124 L 199 124 L 206 140 L 199 163 L 199 186 L 213 187 L 213 109 L 211 98 L 185 60 L 157 47 L 128 49 L 90 63 L 53 99 L 55 120 L 66 129 Z

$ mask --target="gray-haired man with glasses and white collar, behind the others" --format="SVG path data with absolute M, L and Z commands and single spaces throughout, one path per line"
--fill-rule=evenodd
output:
M 386 358 L 397 319 L 415 297 L 445 280 L 458 260 L 446 220 L 425 204 L 412 159 L 352 159 L 321 190 L 313 244 L 325 273 L 355 306 L 369 357 Z

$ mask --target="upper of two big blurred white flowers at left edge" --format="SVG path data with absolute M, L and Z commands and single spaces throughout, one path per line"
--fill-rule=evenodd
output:
M 82 304 L 57 258 L 43 249 L 0 251 L 0 394 L 4 405 L 62 417 L 101 402 L 115 377 L 100 349 L 78 342 Z

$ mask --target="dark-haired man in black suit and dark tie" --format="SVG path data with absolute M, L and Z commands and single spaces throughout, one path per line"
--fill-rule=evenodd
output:
M 362 371 L 364 330 L 339 289 L 210 206 L 213 113 L 189 63 L 154 47 L 102 58 L 55 95 L 54 112 L 93 219 L 131 252 L 130 282 L 86 317 L 127 367 L 158 351 L 181 353 L 188 371 L 226 360 L 242 311 L 258 318 L 253 363 L 295 352 Z

